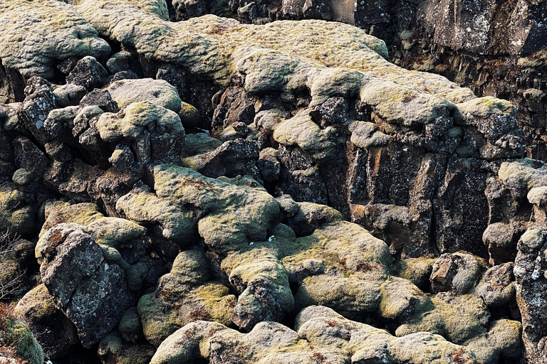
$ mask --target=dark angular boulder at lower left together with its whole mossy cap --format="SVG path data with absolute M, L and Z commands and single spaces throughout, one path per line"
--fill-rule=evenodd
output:
M 148 272 L 147 244 L 144 228 L 118 218 L 61 223 L 38 241 L 42 281 L 83 346 L 103 338 L 135 304 Z

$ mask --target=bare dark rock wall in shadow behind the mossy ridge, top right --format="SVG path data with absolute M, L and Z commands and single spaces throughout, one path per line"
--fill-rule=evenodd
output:
M 203 10 L 219 15 L 229 11 L 244 23 L 319 18 L 363 28 L 387 43 L 390 60 L 397 65 L 444 75 L 477 95 L 516 102 L 528 156 L 545 161 L 545 9 L 543 0 L 269 0 L 229 1 L 222 10 Z

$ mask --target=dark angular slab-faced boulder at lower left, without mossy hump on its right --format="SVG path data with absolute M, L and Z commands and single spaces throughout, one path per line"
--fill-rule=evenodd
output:
M 51 298 L 75 323 L 85 347 L 100 341 L 136 302 L 137 272 L 115 247 L 98 245 L 82 225 L 59 224 L 48 230 L 36 246 L 36 256 Z

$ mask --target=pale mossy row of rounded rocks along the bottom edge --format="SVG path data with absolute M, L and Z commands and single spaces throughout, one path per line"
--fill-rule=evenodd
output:
M 209 363 L 476 363 L 467 348 L 441 336 L 417 333 L 395 338 L 322 306 L 301 311 L 295 330 L 266 321 L 242 334 L 218 323 L 197 321 L 167 338 L 151 363 L 197 358 Z

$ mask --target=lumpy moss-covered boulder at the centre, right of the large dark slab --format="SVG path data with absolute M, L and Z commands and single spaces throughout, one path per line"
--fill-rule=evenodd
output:
M 197 226 L 207 245 L 229 252 L 266 240 L 279 212 L 276 200 L 251 178 L 213 179 L 165 164 L 153 173 L 155 193 L 132 191 L 117 207 L 132 220 L 159 223 L 163 235 L 174 241 L 184 242 Z

